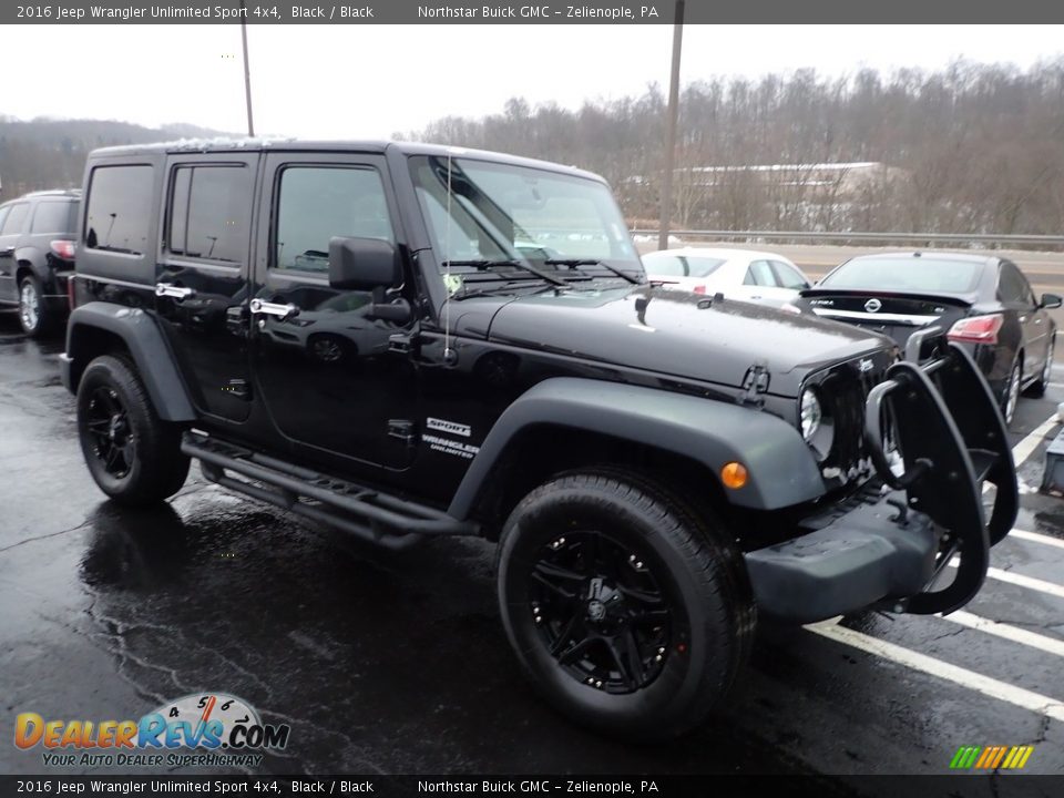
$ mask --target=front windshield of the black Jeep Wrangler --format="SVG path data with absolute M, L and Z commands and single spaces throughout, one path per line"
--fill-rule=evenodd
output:
M 448 202 L 448 162 L 451 195 Z M 610 190 L 592 180 L 462 157 L 415 156 L 411 174 L 440 269 L 523 262 L 567 275 L 555 260 L 643 269 Z M 611 276 L 608 273 L 603 276 Z M 615 277 L 616 275 L 612 275 Z

